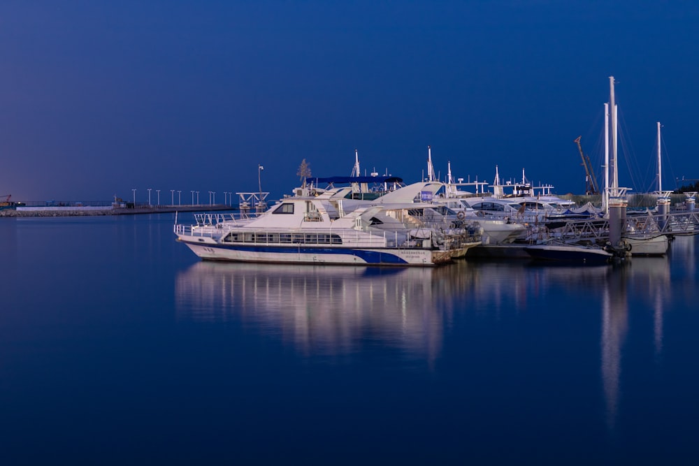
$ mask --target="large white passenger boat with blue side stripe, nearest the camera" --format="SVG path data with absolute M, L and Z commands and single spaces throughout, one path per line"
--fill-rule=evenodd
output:
M 421 184 L 398 191 L 405 189 L 410 198 Z M 473 227 L 419 218 L 429 204 L 363 204 L 347 212 L 343 196 L 328 191 L 284 198 L 252 219 L 199 214 L 196 224 L 175 223 L 175 235 L 202 259 L 268 263 L 435 265 L 464 256 L 481 242 Z M 387 196 L 381 201 L 401 198 Z

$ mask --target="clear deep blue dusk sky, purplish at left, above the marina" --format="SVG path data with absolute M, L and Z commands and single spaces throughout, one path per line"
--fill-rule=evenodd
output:
M 609 76 L 620 184 L 699 178 L 695 1 L 0 3 L 0 195 L 161 203 L 362 171 L 601 178 Z M 623 152 L 623 154 L 622 154 Z M 175 193 L 175 203 L 177 202 Z M 237 198 L 234 198 L 234 202 Z

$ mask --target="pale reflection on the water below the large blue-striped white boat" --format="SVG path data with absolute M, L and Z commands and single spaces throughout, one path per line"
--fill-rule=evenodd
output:
M 429 361 L 469 275 L 453 268 L 196 263 L 177 277 L 178 318 L 238 320 L 305 354 L 392 345 Z

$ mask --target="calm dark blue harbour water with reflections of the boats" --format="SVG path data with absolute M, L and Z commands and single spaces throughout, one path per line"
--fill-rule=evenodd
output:
M 696 239 L 624 268 L 204 263 L 0 219 L 0 464 L 696 460 Z

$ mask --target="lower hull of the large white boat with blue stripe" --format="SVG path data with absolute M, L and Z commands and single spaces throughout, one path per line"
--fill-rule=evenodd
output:
M 464 247 L 452 251 L 412 248 L 309 247 L 273 245 L 221 245 L 196 242 L 179 236 L 192 252 L 210 261 L 259 263 L 326 263 L 347 265 L 439 265 L 466 254 Z M 474 242 L 473 245 L 479 244 Z

